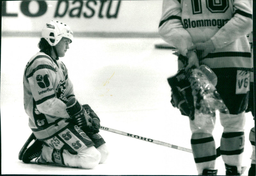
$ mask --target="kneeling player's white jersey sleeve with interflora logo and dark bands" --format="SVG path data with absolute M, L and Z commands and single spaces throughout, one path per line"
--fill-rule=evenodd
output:
M 37 58 L 25 71 L 37 109 L 44 114 L 69 118 L 66 104 L 55 96 L 55 67 L 47 56 Z

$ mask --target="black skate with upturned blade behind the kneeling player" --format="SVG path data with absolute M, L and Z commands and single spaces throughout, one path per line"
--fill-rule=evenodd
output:
M 33 135 L 31 135 L 33 137 Z M 34 138 L 29 137 L 19 153 L 19 159 L 24 163 L 29 163 L 32 159 L 37 158 L 42 153 L 43 142 L 35 139 L 34 143 L 27 148 Z

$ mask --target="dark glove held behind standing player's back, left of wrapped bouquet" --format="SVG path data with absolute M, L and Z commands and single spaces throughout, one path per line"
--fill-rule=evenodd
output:
M 194 120 L 194 99 L 190 82 L 185 76 L 185 69 L 178 71 L 178 73 L 167 79 L 171 86 L 171 103 L 173 107 L 180 109 L 180 112 L 184 116 L 188 116 L 191 120 Z

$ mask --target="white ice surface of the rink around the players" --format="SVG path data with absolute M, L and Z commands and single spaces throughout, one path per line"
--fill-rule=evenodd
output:
M 20 148 L 31 133 L 23 109 L 23 70 L 39 49 L 39 38 L 2 37 L 1 45 L 1 147 L 2 174 L 61 175 L 197 175 L 192 153 L 131 137 L 100 131 L 110 155 L 104 164 L 85 170 L 64 166 L 25 164 Z M 75 95 L 89 104 L 101 125 L 141 137 L 191 148 L 188 117 L 170 103 L 167 77 L 177 72 L 173 51 L 155 49 L 158 38 L 75 38 L 64 58 Z M 246 114 L 243 165 L 251 164 L 249 131 L 254 126 Z M 220 145 L 219 120 L 213 131 Z M 224 163 L 216 160 L 218 175 Z

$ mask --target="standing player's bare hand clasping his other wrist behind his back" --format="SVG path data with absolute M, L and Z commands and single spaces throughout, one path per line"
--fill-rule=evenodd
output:
M 206 42 L 196 43 L 195 46 L 196 54 L 199 59 L 204 58 L 215 50 L 215 46 L 213 45 L 211 39 Z

